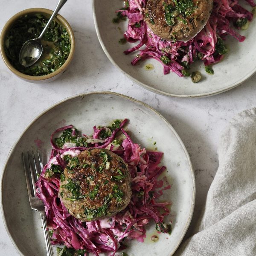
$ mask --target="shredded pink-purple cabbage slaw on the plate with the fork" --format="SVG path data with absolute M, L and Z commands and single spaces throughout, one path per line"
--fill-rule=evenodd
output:
M 60 148 L 55 144 L 54 136 L 58 132 L 71 128 L 73 129 L 72 135 L 76 135 L 73 125 L 64 126 L 53 132 L 50 138 L 52 151 L 49 161 L 44 166 L 44 170 L 36 183 L 37 196 L 45 204 L 49 229 L 53 230 L 52 244 L 64 244 L 75 250 L 86 249 L 87 252 L 94 255 L 99 255 L 102 252 L 115 255 L 117 250 L 125 249 L 125 245 L 122 243 L 125 239 L 137 239 L 137 241 L 143 242 L 146 237 L 145 225 L 151 219 L 155 223 L 162 223 L 164 216 L 169 215 L 167 205 L 170 203 L 156 201 L 163 194 L 163 190 L 170 189 L 166 177 L 163 180 L 157 180 L 159 175 L 166 170 L 165 166 L 159 166 L 163 153 L 146 151 L 145 148 L 141 148 L 140 145 L 134 143 L 123 129 L 126 122 L 128 122 L 127 119 L 123 120 L 119 128 L 116 128 L 111 136 L 103 141 L 99 139 L 102 128 L 98 129 L 94 126 L 94 133 L 90 137 L 93 142 L 89 143 L 88 147 L 76 147 L 72 143 L 65 143 Z M 123 134 L 124 136 L 122 145 L 118 148 L 111 144 L 117 134 Z M 88 138 L 88 136 L 86 137 Z M 122 157 L 125 163 L 128 164 L 132 178 L 131 201 L 125 210 L 112 218 L 81 222 L 70 215 L 60 198 L 58 198 L 60 175 L 52 175 L 47 178 L 45 173 L 52 164 L 58 165 L 64 170 L 67 166 L 64 156 L 67 154 L 76 157 L 81 151 L 88 148 L 107 147 Z M 152 192 L 155 193 L 152 194 Z

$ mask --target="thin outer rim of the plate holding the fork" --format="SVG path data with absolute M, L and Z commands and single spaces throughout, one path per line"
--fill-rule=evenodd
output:
M 26 128 L 24 129 L 24 131 L 19 135 L 19 137 L 17 138 L 17 140 L 15 141 L 15 143 L 12 145 L 10 151 L 9 151 L 9 154 L 6 158 L 6 162 L 4 163 L 3 165 L 3 172 L 2 172 L 2 175 L 1 175 L 1 180 L 0 180 L 0 209 L 1 209 L 1 215 L 2 215 L 2 218 L 3 218 L 3 224 L 4 224 L 4 227 L 6 229 L 6 232 L 9 236 L 9 238 L 11 239 L 12 241 L 12 244 L 14 245 L 15 249 L 18 251 L 18 253 L 20 253 L 21 256 L 25 256 L 20 248 L 18 247 L 18 245 L 15 243 L 14 239 L 12 238 L 12 235 L 11 235 L 11 232 L 9 230 L 9 227 L 7 225 L 7 221 L 6 221 L 6 217 L 5 217 L 5 212 L 4 212 L 4 208 L 3 208 L 3 179 L 5 177 L 5 174 L 6 174 L 6 169 L 7 169 L 7 164 L 11 158 L 11 155 L 13 153 L 13 151 L 15 150 L 15 147 L 17 145 L 17 143 L 22 139 L 22 137 L 24 136 L 24 134 L 26 133 L 26 131 L 38 120 L 41 118 L 41 116 L 43 116 L 44 114 L 46 114 L 47 112 L 51 111 L 53 108 L 57 107 L 58 105 L 61 105 L 62 103 L 68 101 L 68 100 L 71 100 L 71 99 L 75 99 L 75 98 L 80 98 L 80 97 L 86 97 L 88 95 L 96 95 L 96 94 L 107 94 L 107 95 L 114 95 L 114 96 L 119 96 L 121 98 L 124 98 L 124 99 L 128 99 L 129 101 L 131 102 L 136 102 L 140 105 L 143 105 L 145 106 L 146 108 L 148 108 L 149 110 L 151 110 L 154 114 L 156 114 L 158 117 L 160 117 L 160 119 L 162 119 L 166 125 L 169 126 L 169 128 L 172 130 L 173 134 L 175 135 L 176 139 L 178 140 L 178 142 L 180 143 L 181 145 L 181 148 L 183 149 L 185 155 L 186 155 L 186 158 L 188 160 L 188 163 L 189 163 L 189 169 L 190 169 L 190 172 L 191 172 L 191 175 L 192 175 L 192 182 L 193 182 L 193 193 L 192 193 L 192 204 L 191 204 L 191 208 L 190 208 L 190 211 L 189 211 L 189 216 L 188 216 L 188 219 L 186 221 L 186 225 L 185 227 L 183 228 L 183 231 L 182 231 L 182 235 L 180 236 L 180 240 L 178 241 L 176 247 L 174 248 L 174 250 L 171 252 L 170 256 L 172 256 L 175 251 L 177 250 L 177 248 L 179 247 L 181 241 L 183 240 L 185 234 L 186 234 L 186 231 L 188 230 L 189 228 L 189 225 L 190 225 L 190 222 L 191 222 L 191 219 L 192 219 L 192 215 L 193 215 L 193 212 L 194 212 L 194 208 L 195 208 L 195 174 L 194 174 L 194 170 L 193 170 L 193 167 L 192 167 L 192 163 L 191 163 L 191 160 L 190 160 L 190 157 L 189 157 L 189 153 L 187 152 L 186 150 L 186 147 L 185 145 L 183 144 L 182 140 L 180 139 L 179 135 L 177 134 L 177 132 L 175 131 L 175 129 L 172 127 L 172 125 L 167 121 L 167 119 L 165 117 L 163 117 L 159 112 L 157 112 L 154 108 L 152 108 L 150 105 L 140 101 L 140 100 L 137 100 L 137 99 L 134 99 L 130 96 L 126 96 L 124 94 L 121 94 L 121 93 L 116 93 L 116 92 L 111 92 L 111 91 L 91 91 L 91 92 L 87 92 L 87 93 L 79 93 L 79 94 L 76 94 L 76 95 L 73 95 L 73 96 L 69 96 L 69 97 L 66 97 L 58 102 L 56 102 L 55 104 L 49 106 L 49 108 L 45 109 L 44 111 L 42 111 L 41 113 L 39 113 L 34 119 L 32 119 L 31 122 L 29 122 L 29 124 L 26 126 Z

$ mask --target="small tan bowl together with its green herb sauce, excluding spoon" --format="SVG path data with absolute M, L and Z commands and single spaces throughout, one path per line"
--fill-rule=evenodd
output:
M 37 38 L 49 17 L 51 10 L 43 8 L 26 9 L 14 15 L 3 28 L 0 36 L 0 52 L 7 67 L 23 80 L 42 83 L 59 77 L 70 64 L 74 50 L 74 33 L 61 15 L 57 15 L 41 40 L 43 54 L 31 67 L 19 62 L 19 53 L 25 41 Z

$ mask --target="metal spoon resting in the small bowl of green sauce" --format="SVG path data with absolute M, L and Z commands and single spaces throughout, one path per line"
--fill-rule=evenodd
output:
M 47 28 L 51 24 L 52 20 L 55 18 L 55 16 L 58 14 L 62 6 L 67 2 L 67 0 L 59 0 L 54 12 L 52 13 L 52 16 L 50 17 L 49 21 L 47 22 L 46 26 L 44 27 L 44 30 L 41 32 L 38 38 L 30 39 L 26 41 L 22 48 L 20 49 L 20 64 L 24 67 L 30 67 L 33 64 L 35 64 L 38 59 L 41 57 L 43 53 L 43 46 L 41 44 L 41 39 L 44 36 L 44 33 L 46 32 Z

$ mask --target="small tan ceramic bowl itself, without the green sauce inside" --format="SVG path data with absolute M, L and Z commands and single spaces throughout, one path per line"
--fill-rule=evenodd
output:
M 29 76 L 29 75 L 21 73 L 20 71 L 15 69 L 15 67 L 12 66 L 9 59 L 7 58 L 7 55 L 5 52 L 5 47 L 4 47 L 6 35 L 8 35 L 9 29 L 12 28 L 12 26 L 14 25 L 16 20 L 20 19 L 21 17 L 23 17 L 25 15 L 38 14 L 38 13 L 50 16 L 50 15 L 52 15 L 53 11 L 51 11 L 49 9 L 44 9 L 44 8 L 32 8 L 32 9 L 26 9 L 22 12 L 19 12 L 7 21 L 6 25 L 3 28 L 1 36 L 0 36 L 0 52 L 1 52 L 3 61 L 5 62 L 6 66 L 20 79 L 23 79 L 25 81 L 32 82 L 32 83 L 50 82 L 50 81 L 55 80 L 59 76 L 61 76 L 61 74 L 64 73 L 65 70 L 67 70 L 67 67 L 70 64 L 70 62 L 73 58 L 73 55 L 74 55 L 74 51 L 75 51 L 75 37 L 74 37 L 74 33 L 70 27 L 70 24 L 67 22 L 67 20 L 64 19 L 64 17 L 62 17 L 61 15 L 57 15 L 55 17 L 55 20 L 58 23 L 60 23 L 64 28 L 67 29 L 67 32 L 70 36 L 70 45 L 71 45 L 70 54 L 69 54 L 67 60 L 65 61 L 65 63 L 58 70 L 56 70 L 48 75 L 45 75 L 45 76 Z

